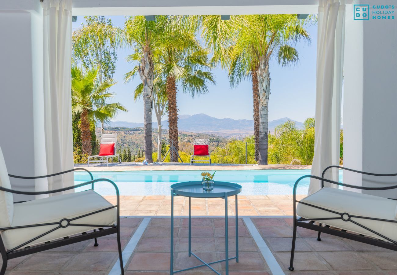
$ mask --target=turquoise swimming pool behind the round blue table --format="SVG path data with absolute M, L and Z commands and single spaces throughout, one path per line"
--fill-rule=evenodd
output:
M 123 171 L 92 172 L 94 178 L 108 178 L 114 181 L 124 196 L 170 195 L 170 186 L 175 182 L 201 180 L 202 171 Z M 215 180 L 234 182 L 243 186 L 241 195 L 285 195 L 292 194 L 295 181 L 310 174 L 303 170 L 218 170 Z M 90 180 L 87 172 L 75 172 L 75 184 Z M 342 172 L 339 181 L 342 180 Z M 309 179 L 301 181 L 297 194 L 307 194 Z M 77 191 L 87 188 L 78 188 Z M 99 194 L 114 195 L 109 183 L 98 182 L 95 191 Z

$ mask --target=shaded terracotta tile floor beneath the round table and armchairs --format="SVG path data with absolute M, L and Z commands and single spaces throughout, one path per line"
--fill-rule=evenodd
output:
M 200 264 L 188 256 L 187 218 L 174 220 L 174 269 Z M 235 219 L 229 217 L 229 257 L 235 256 Z M 396 275 L 397 252 L 299 228 L 295 271 L 288 270 L 292 218 L 239 218 L 239 262 L 229 261 L 229 275 L 324 274 Z M 121 218 L 121 244 L 126 275 L 170 274 L 170 218 Z M 138 230 L 137 230 L 138 229 Z M 192 251 L 205 261 L 224 259 L 224 218 L 192 218 Z M 71 244 L 9 261 L 10 275 L 119 274 L 115 236 Z M 263 245 L 264 244 L 264 245 Z M 1 260 L 0 260 L 1 262 Z M 225 263 L 213 264 L 225 274 Z M 181 274 L 215 274 L 200 267 Z

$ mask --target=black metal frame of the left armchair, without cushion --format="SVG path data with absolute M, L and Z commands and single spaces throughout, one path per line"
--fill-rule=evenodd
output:
M 4 227 L 4 228 L 0 228 L 0 231 L 4 231 L 4 230 L 10 230 L 10 229 L 19 229 L 19 228 L 28 228 L 28 227 L 39 227 L 39 226 L 47 226 L 47 225 L 58 225 L 57 227 L 55 227 L 54 229 L 51 229 L 43 234 L 41 234 L 40 236 L 37 236 L 15 248 L 12 248 L 10 250 L 6 250 L 3 240 L 2 240 L 2 236 L 0 235 L 0 254 L 2 256 L 2 260 L 3 260 L 3 265 L 0 271 L 0 275 L 4 275 L 6 272 L 6 268 L 7 268 L 7 263 L 8 260 L 13 259 L 13 258 L 18 258 L 21 256 L 25 256 L 25 255 L 29 255 L 29 254 L 33 254 L 36 252 L 41 252 L 41 251 L 45 251 L 45 250 L 49 250 L 52 248 L 56 248 L 56 247 L 60 247 L 60 246 L 65 246 L 68 244 L 74 244 L 76 242 L 82 242 L 85 240 L 90 240 L 90 239 L 94 239 L 94 246 L 98 246 L 98 242 L 96 240 L 96 238 L 98 237 L 102 237 L 102 236 L 107 236 L 110 234 L 116 234 L 117 235 L 117 245 L 118 245 L 118 253 L 119 253 L 119 262 L 120 262 L 120 268 L 121 268 L 121 274 L 124 274 L 124 268 L 123 268 L 123 258 L 121 256 L 121 242 L 120 242 L 120 210 L 119 210 L 119 190 L 117 185 L 112 181 L 109 180 L 107 178 L 98 178 L 94 180 L 93 174 L 91 174 L 91 172 L 87 169 L 84 168 L 75 168 L 75 169 L 71 169 L 71 170 L 67 170 L 64 172 L 59 172 L 56 174 L 50 174 L 50 175 L 46 175 L 46 176 L 33 176 L 33 177 L 28 177 L 28 176 L 15 176 L 15 175 L 11 175 L 8 174 L 8 176 L 12 177 L 12 178 L 22 178 L 22 179 L 37 179 L 37 178 L 48 178 L 51 176 L 58 176 L 61 174 L 65 174 L 68 172 L 73 172 L 75 170 L 84 170 L 87 171 L 89 173 L 89 175 L 91 176 L 91 180 L 88 182 L 83 182 L 81 184 L 77 184 L 74 186 L 70 186 L 70 187 L 66 187 L 66 188 L 60 188 L 60 189 L 56 189 L 56 190 L 49 190 L 49 191 L 43 191 L 43 192 L 25 192 L 25 191 L 17 191 L 17 190 L 11 190 L 8 188 L 4 188 L 0 186 L 0 190 L 4 191 L 4 192 L 10 192 L 13 194 L 21 194 L 21 195 L 44 195 L 44 194 L 54 194 L 54 193 L 58 193 L 58 192 L 64 192 L 67 190 L 72 190 L 75 188 L 79 188 L 82 186 L 87 186 L 89 184 L 91 184 L 91 190 L 94 190 L 94 183 L 96 182 L 110 182 L 110 184 L 112 184 L 116 190 L 116 196 L 117 196 L 117 204 L 116 205 L 112 205 L 110 207 L 104 208 L 104 209 L 100 209 L 98 211 L 94 211 L 91 213 L 87 213 L 85 215 L 81 215 L 79 217 L 74 217 L 73 219 L 61 219 L 59 222 L 54 222 L 54 223 L 44 223 L 44 224 L 35 224 L 35 225 L 24 225 L 24 226 L 17 226 L 17 227 Z M 18 201 L 18 202 L 14 202 L 14 203 L 21 203 L 23 201 Z M 80 219 L 83 217 L 87 217 L 89 215 L 93 215 L 102 211 L 106 211 L 108 209 L 112 209 L 116 207 L 116 225 L 86 225 L 86 224 L 74 224 L 73 221 L 76 219 Z M 66 228 L 68 226 L 79 226 L 79 227 L 97 227 L 97 230 L 93 230 L 93 232 L 83 232 L 81 233 L 81 235 L 78 236 L 67 236 L 64 237 L 63 239 L 59 239 L 59 240 L 54 240 L 51 242 L 45 242 L 44 244 L 38 244 L 35 246 L 26 246 L 28 245 L 30 242 L 33 242 L 39 238 L 41 238 L 42 236 L 45 236 L 46 234 L 49 234 L 50 232 L 55 231 L 56 229 L 60 229 L 60 228 Z M 91 230 L 90 230 L 91 231 Z

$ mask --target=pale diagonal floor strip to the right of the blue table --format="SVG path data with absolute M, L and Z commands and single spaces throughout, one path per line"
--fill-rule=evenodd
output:
M 256 229 L 254 223 L 252 223 L 251 218 L 244 217 L 243 221 L 244 221 L 245 225 L 247 226 L 249 232 L 251 233 L 251 236 L 254 239 L 254 242 L 256 243 L 260 252 L 262 253 L 262 256 L 265 259 L 266 263 L 268 264 L 272 274 L 273 275 L 284 275 L 285 273 L 281 269 L 276 258 L 274 258 L 274 255 L 270 251 L 266 242 L 263 240 L 262 236 L 260 236 L 258 229 Z

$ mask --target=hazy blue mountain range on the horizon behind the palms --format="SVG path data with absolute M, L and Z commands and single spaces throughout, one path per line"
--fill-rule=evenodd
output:
M 178 116 L 178 128 L 181 131 L 193 133 L 216 134 L 224 137 L 232 136 L 247 136 L 254 133 L 254 121 L 247 119 L 232 119 L 232 118 L 214 118 L 206 114 L 194 114 L 193 116 L 183 114 Z M 289 118 L 280 118 L 269 121 L 269 130 L 274 132 L 276 126 L 291 120 Z M 298 128 L 303 127 L 303 123 L 295 121 Z M 162 121 L 163 129 L 168 129 L 168 121 Z M 127 121 L 113 121 L 108 126 L 110 127 L 143 127 L 143 123 L 127 122 Z M 153 128 L 157 128 L 157 122 L 152 123 Z

